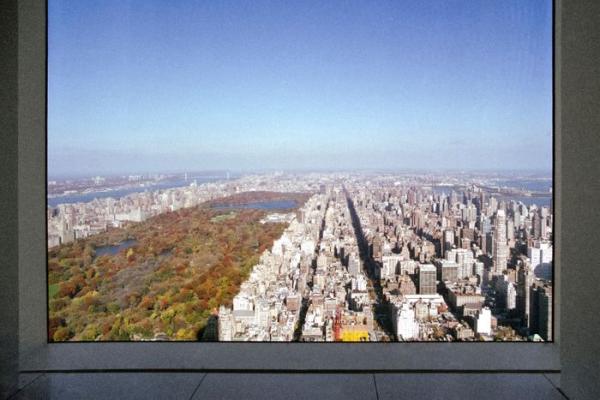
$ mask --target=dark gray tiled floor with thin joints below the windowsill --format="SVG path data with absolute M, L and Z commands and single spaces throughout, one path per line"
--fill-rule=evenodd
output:
M 542 373 L 23 373 L 10 399 L 566 399 Z

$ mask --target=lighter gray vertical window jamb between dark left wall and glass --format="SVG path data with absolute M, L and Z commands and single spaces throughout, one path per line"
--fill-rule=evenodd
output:
M 19 0 L 19 357 L 47 340 L 46 2 Z M 40 207 L 41 206 L 41 207 Z M 37 254 L 39 258 L 32 258 Z M 21 365 L 22 369 L 22 365 Z

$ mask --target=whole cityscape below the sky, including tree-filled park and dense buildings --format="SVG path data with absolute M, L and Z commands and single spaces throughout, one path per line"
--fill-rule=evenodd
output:
M 553 340 L 545 180 L 152 181 L 49 186 L 51 340 Z

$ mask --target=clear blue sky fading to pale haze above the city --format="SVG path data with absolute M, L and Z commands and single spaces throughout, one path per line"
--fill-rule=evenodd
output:
M 50 175 L 552 165 L 551 1 L 49 1 Z

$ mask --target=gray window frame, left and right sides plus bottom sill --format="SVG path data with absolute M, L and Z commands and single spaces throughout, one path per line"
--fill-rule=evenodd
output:
M 21 371 L 560 370 L 560 38 L 553 3 L 554 341 L 551 343 L 48 343 L 46 273 L 47 3 L 19 2 L 19 353 Z

